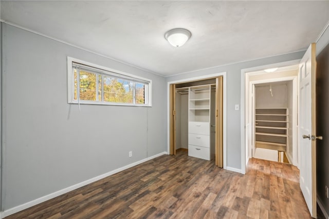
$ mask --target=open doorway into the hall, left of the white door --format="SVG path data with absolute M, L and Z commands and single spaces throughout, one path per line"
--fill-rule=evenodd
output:
M 247 158 L 298 166 L 298 65 L 246 75 Z

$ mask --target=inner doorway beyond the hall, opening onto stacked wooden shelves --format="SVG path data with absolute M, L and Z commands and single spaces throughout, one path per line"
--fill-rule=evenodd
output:
M 293 164 L 296 145 L 293 129 L 297 128 L 293 121 L 297 108 L 293 81 L 258 83 L 251 89 L 252 157 Z

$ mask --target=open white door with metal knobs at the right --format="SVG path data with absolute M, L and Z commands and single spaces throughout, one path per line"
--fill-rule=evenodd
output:
M 315 43 L 308 47 L 299 71 L 300 188 L 311 216 L 316 218 L 316 141 L 312 141 L 315 135 Z

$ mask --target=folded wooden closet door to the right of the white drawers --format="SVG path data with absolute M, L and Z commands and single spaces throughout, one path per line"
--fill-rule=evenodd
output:
M 216 78 L 215 165 L 223 168 L 223 76 Z

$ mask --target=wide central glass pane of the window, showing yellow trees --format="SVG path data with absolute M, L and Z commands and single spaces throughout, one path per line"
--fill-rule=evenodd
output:
M 115 77 L 104 78 L 104 101 L 113 103 L 133 103 L 133 82 Z

